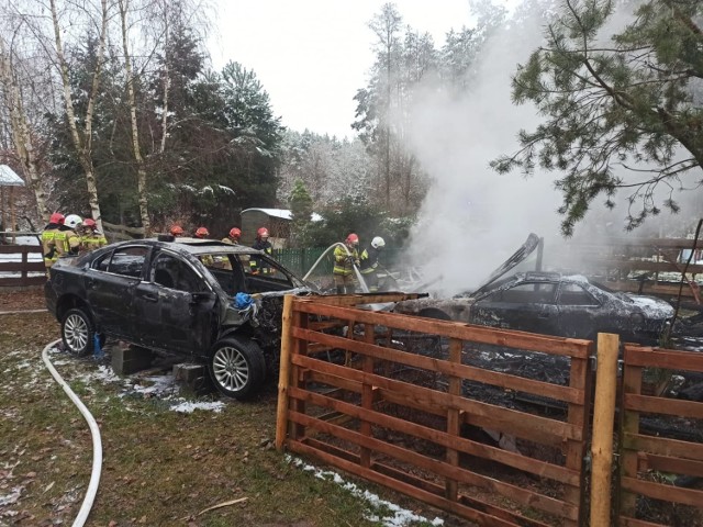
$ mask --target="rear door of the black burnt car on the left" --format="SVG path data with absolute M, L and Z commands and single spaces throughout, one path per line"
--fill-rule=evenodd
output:
M 132 339 L 134 292 L 142 280 L 146 246 L 121 246 L 86 272 L 86 298 L 101 332 Z

